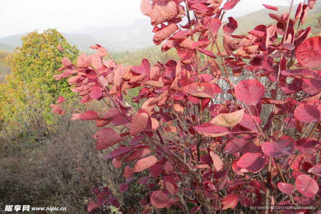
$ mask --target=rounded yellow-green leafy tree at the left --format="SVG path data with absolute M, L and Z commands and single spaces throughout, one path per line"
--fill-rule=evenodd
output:
M 61 73 L 57 71 L 62 66 L 61 58 L 68 57 L 74 62 L 79 50 L 56 29 L 32 31 L 22 41 L 12 58 L 12 74 L 1 85 L 0 119 L 19 128 L 21 133 L 31 131 L 45 136 L 47 123 L 53 117 L 48 108 L 50 103 L 59 96 L 74 98 L 67 81 L 57 81 L 52 76 Z M 26 127 L 28 131 L 23 130 Z

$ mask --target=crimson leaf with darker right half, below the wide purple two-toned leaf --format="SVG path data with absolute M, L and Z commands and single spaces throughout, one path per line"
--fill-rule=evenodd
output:
M 267 157 L 261 153 L 245 153 L 237 162 L 240 169 L 247 169 L 253 173 L 259 172 L 266 164 Z

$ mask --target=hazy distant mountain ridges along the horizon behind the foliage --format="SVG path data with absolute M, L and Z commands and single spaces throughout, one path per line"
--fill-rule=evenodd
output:
M 277 6 L 279 12 L 283 13 L 289 11 L 289 6 Z M 292 8 L 292 16 L 294 16 L 298 4 L 294 5 Z M 234 34 L 247 34 L 259 24 L 275 24 L 276 21 L 269 17 L 269 13 L 278 12 L 261 9 L 253 13 L 249 13 L 244 16 L 236 17 L 236 21 L 239 27 Z M 312 32 L 317 31 L 314 27 L 317 25 L 317 18 L 319 18 L 321 13 L 321 1 L 317 1 L 314 9 L 308 11 L 308 18 L 303 26 L 307 28 L 310 26 Z M 237 14 L 234 14 L 237 16 Z M 224 21 L 227 22 L 227 21 Z M 62 33 L 68 42 L 72 45 L 76 45 L 82 51 L 87 51 L 89 47 L 94 43 L 103 45 L 112 51 L 135 51 L 138 49 L 144 49 L 149 46 L 153 46 L 152 38 L 154 33 L 152 32 L 153 26 L 150 24 L 150 19 L 140 19 L 135 21 L 133 24 L 128 26 L 108 26 L 108 27 L 88 27 L 78 31 L 71 31 L 67 33 Z M 25 34 L 16 34 L 13 36 L 8 36 L 5 38 L 0 38 L 0 49 L 9 51 L 12 47 L 19 47 L 22 45 L 21 36 Z M 4 45 L 9 45 L 4 47 Z

